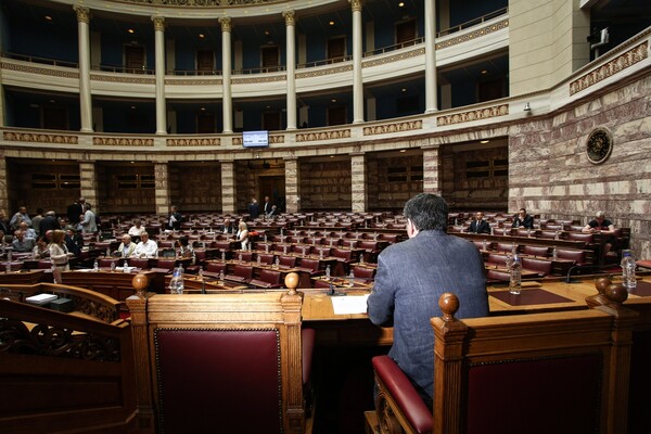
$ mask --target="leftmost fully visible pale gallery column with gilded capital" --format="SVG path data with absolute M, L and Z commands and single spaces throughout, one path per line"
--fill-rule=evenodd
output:
M 92 100 L 90 97 L 90 10 L 74 5 L 77 13 L 77 34 L 79 48 L 79 112 L 81 114 L 81 131 L 92 132 Z

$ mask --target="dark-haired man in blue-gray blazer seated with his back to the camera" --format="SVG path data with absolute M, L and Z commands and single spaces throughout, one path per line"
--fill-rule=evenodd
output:
M 411 379 L 427 405 L 434 384 L 434 332 L 430 318 L 441 316 L 438 297 L 459 297 L 457 318 L 488 315 L 484 261 L 469 241 L 448 235 L 443 197 L 421 193 L 405 204 L 409 239 L 386 247 L 368 298 L 370 320 L 394 328 L 388 355 Z

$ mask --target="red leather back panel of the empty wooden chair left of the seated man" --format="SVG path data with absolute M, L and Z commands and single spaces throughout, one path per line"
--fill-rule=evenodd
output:
M 154 335 L 162 433 L 280 433 L 277 330 Z

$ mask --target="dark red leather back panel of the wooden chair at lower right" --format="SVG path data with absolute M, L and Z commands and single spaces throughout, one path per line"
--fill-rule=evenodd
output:
M 467 433 L 598 433 L 598 355 L 512 360 L 468 370 Z

